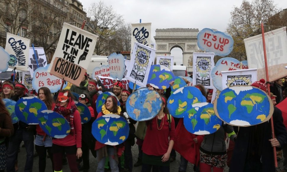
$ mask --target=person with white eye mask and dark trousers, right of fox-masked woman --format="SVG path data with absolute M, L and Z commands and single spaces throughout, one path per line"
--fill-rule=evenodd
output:
M 91 144 L 91 138 L 93 137 L 91 134 L 92 123 L 95 119 L 94 110 L 89 102 L 89 98 L 86 94 L 81 94 L 79 96 L 79 102 L 88 106 L 91 112 L 91 120 L 85 124 L 82 124 L 82 151 L 83 151 L 83 166 L 79 168 L 79 171 L 88 171 L 90 168 L 90 160 L 89 160 L 89 150 L 91 150 L 93 157 L 97 157 L 97 153 L 95 151 L 95 143 Z

